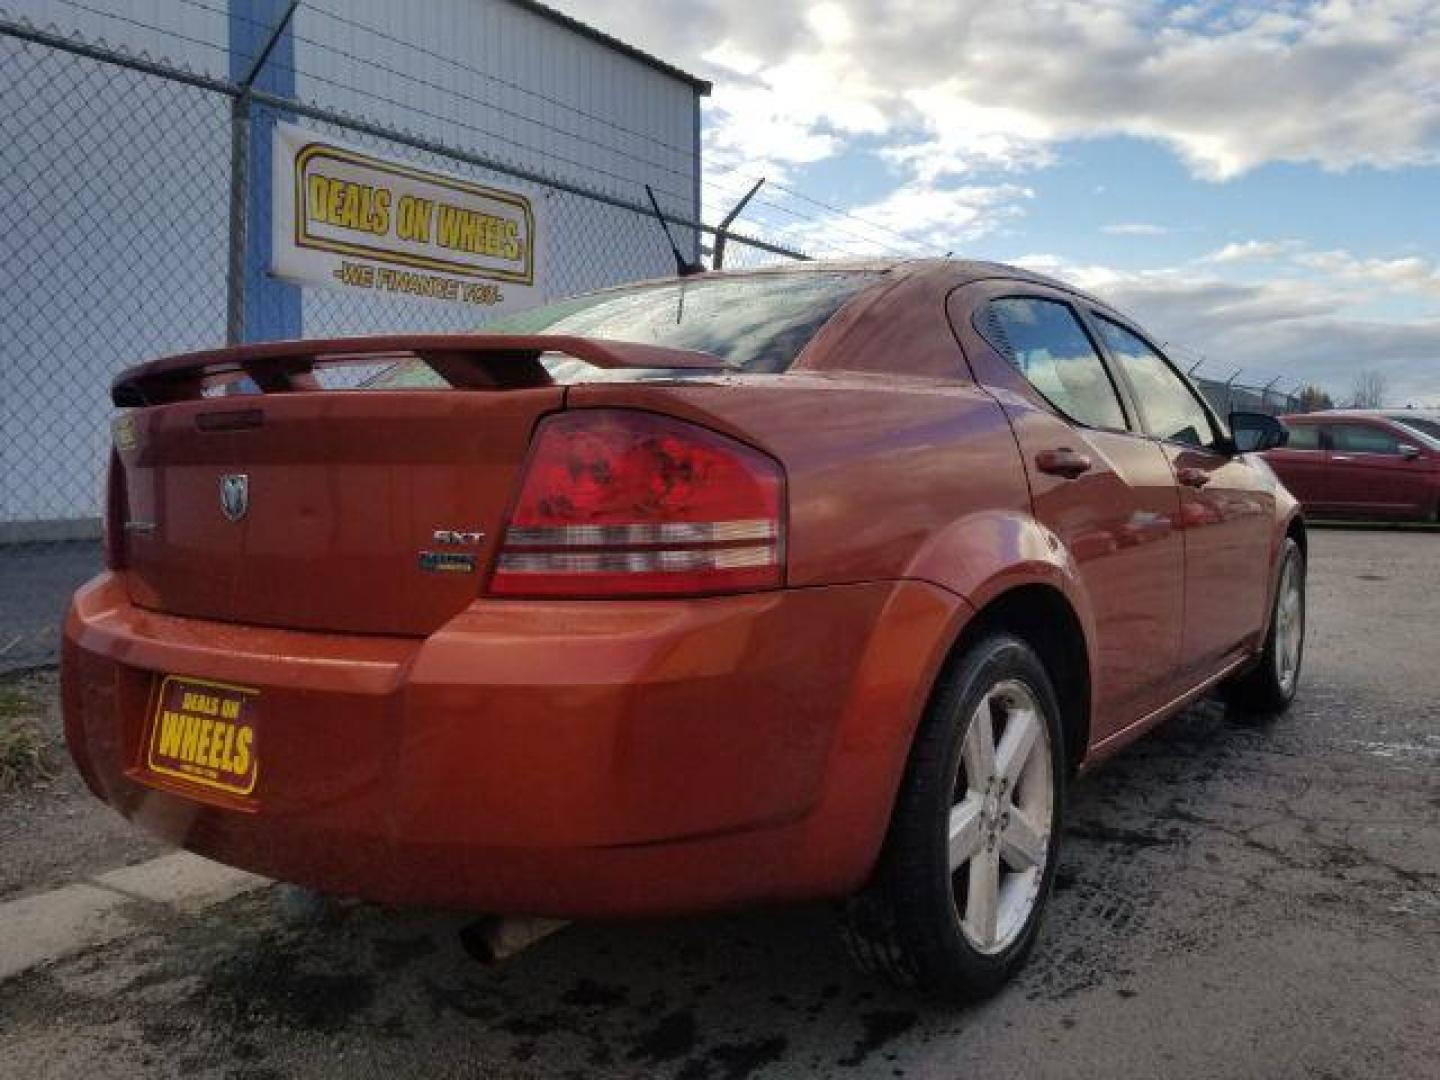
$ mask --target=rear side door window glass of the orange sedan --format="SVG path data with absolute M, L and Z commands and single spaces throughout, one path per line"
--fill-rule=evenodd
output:
M 1068 304 L 1007 297 L 985 305 L 985 338 L 1056 409 L 1090 428 L 1125 431 L 1110 373 Z

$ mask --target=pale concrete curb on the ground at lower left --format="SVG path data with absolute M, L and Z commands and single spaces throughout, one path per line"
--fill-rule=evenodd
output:
M 170 855 L 0 904 L 0 982 L 140 929 L 135 904 L 193 914 L 269 884 L 207 858 Z

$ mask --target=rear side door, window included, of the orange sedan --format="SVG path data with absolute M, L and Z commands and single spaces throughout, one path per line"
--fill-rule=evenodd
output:
M 1094 736 L 1168 700 L 1179 660 L 1179 497 L 1165 454 L 1138 435 L 1071 298 L 1015 281 L 950 297 L 976 380 L 1005 409 L 1035 517 L 1076 562 L 1093 612 Z

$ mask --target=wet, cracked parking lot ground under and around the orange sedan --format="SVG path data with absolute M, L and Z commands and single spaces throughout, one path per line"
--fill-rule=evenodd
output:
M 1440 1077 L 1440 534 L 1312 536 L 1296 707 L 1197 706 L 1081 779 L 1037 955 L 985 1005 L 851 973 L 825 909 L 572 926 L 487 968 L 464 917 L 261 888 L 135 900 L 0 982 L 0 1073 Z M 0 900 L 156 854 L 98 816 L 71 775 L 0 796 Z

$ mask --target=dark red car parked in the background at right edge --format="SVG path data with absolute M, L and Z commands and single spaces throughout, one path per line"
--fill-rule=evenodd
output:
M 1264 456 L 1315 517 L 1440 521 L 1440 416 L 1332 409 L 1283 416 L 1284 446 Z

